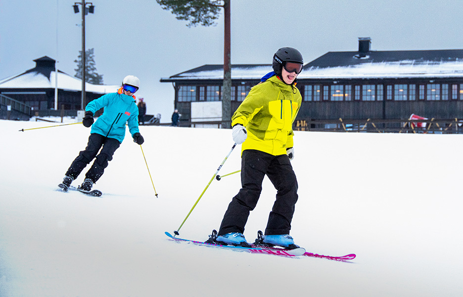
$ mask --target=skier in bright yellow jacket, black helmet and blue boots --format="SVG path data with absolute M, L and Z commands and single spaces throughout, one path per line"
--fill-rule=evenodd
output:
M 289 236 L 297 180 L 290 160 L 294 158 L 292 124 L 302 97 L 295 87 L 302 71 L 301 53 L 281 48 L 275 53 L 274 71 L 253 87 L 231 117 L 232 137 L 241 146 L 241 190 L 232 198 L 222 220 L 216 242 L 250 247 L 244 226 L 257 204 L 267 175 L 277 189 L 263 242 L 272 246 L 298 247 Z

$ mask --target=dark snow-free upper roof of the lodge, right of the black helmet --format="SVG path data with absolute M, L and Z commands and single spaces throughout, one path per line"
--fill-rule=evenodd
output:
M 309 69 L 311 67 L 343 67 L 364 63 L 400 61 L 413 61 L 414 64 L 463 61 L 463 49 L 371 50 L 365 53 L 359 53 L 358 51 L 330 51 L 306 64 L 304 69 Z

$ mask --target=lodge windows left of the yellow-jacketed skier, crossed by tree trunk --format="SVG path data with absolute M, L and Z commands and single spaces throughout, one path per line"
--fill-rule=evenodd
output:
M 222 86 L 180 86 L 179 102 L 220 101 Z M 243 101 L 251 90 L 250 86 L 231 86 L 231 100 Z

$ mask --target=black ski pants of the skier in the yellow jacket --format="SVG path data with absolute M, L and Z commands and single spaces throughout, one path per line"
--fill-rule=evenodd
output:
M 231 199 L 218 234 L 244 233 L 244 226 L 262 192 L 267 175 L 277 189 L 277 199 L 269 215 L 265 235 L 289 234 L 297 201 L 296 175 L 287 155 L 274 156 L 246 149 L 241 157 L 241 190 Z

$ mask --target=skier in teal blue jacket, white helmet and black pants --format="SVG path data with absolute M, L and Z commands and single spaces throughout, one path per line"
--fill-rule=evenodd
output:
M 79 153 L 67 170 L 63 182 L 58 185 L 63 192 L 68 191 L 72 181 L 95 159 L 92 167 L 85 174 L 84 182 L 79 186 L 79 189 L 83 191 L 92 190 L 93 184 L 103 175 L 104 169 L 108 166 L 108 161 L 112 160 L 114 151 L 124 140 L 126 122 L 134 142 L 139 145 L 143 143 L 143 137 L 139 133 L 138 108 L 134 96 L 139 86 L 138 77 L 128 75 L 116 93 L 103 95 L 87 104 L 82 122 L 85 127 L 92 126 L 93 114 L 97 110 L 104 107 L 104 111 L 92 126 L 87 148 Z

